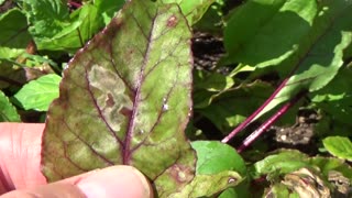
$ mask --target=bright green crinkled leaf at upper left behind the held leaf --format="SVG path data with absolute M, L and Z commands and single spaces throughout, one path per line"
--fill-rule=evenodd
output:
M 113 12 L 108 10 L 118 11 L 122 2 L 114 1 L 113 6 L 109 2 L 110 8 L 101 1 L 88 2 L 69 13 L 66 1 L 29 0 L 24 2 L 24 10 L 38 50 L 75 52 L 111 19 Z

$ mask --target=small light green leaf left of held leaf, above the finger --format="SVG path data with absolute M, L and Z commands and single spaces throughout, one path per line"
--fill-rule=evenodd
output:
M 25 110 L 47 111 L 50 103 L 58 97 L 61 79 L 54 74 L 42 76 L 24 85 L 14 98 Z

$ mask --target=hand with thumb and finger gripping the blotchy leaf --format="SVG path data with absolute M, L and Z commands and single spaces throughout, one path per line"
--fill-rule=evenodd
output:
M 44 124 L 0 123 L 0 198 L 152 197 L 131 166 L 112 166 L 47 184 L 40 170 Z

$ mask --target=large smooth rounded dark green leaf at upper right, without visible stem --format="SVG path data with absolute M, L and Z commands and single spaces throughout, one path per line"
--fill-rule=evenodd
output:
M 231 14 L 224 30 L 228 62 L 258 67 L 280 63 L 296 52 L 316 14 L 315 0 L 248 1 Z

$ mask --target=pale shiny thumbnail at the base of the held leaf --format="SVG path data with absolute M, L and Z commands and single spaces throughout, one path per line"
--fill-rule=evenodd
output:
M 148 182 L 132 166 L 112 166 L 89 174 L 77 187 L 87 198 L 152 197 Z

